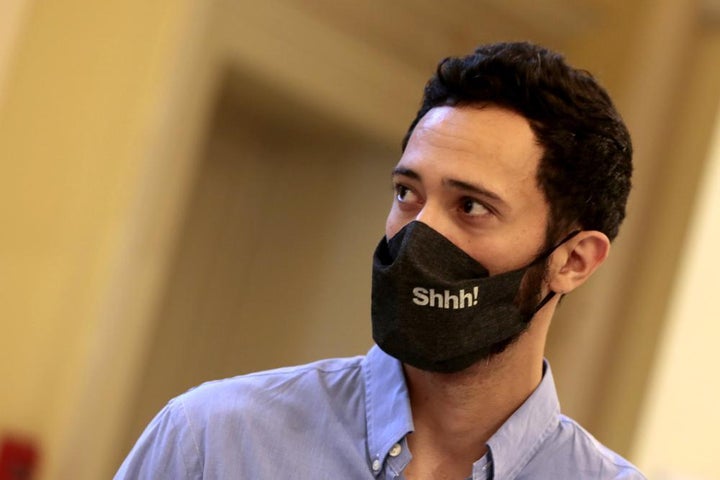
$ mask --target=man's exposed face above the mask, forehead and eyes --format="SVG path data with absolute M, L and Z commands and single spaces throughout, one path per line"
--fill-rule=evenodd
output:
M 490 275 L 526 266 L 545 244 L 549 208 L 536 181 L 542 154 L 527 120 L 514 112 L 433 108 L 393 172 L 385 234 L 419 220 Z

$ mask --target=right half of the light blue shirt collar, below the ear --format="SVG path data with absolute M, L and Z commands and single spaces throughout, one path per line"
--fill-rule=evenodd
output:
M 535 391 L 488 440 L 493 477 L 512 479 L 525 468 L 547 436 L 560 422 L 560 402 L 550 364 Z

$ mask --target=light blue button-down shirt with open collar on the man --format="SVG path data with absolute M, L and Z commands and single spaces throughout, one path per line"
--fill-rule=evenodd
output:
M 373 347 L 203 384 L 173 399 L 115 479 L 402 479 L 413 431 L 402 365 Z M 549 366 L 488 441 L 473 480 L 644 479 L 560 414 Z

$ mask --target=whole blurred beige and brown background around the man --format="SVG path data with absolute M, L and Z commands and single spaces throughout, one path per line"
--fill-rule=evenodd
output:
M 717 0 L 2 0 L 6 460 L 110 478 L 193 385 L 364 353 L 425 81 L 523 39 L 592 71 L 636 149 L 551 332 L 563 408 L 650 478 L 720 479 Z

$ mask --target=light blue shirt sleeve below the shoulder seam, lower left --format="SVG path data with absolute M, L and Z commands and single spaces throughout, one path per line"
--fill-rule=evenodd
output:
M 202 463 L 190 420 L 176 399 L 150 422 L 114 480 L 201 480 Z

